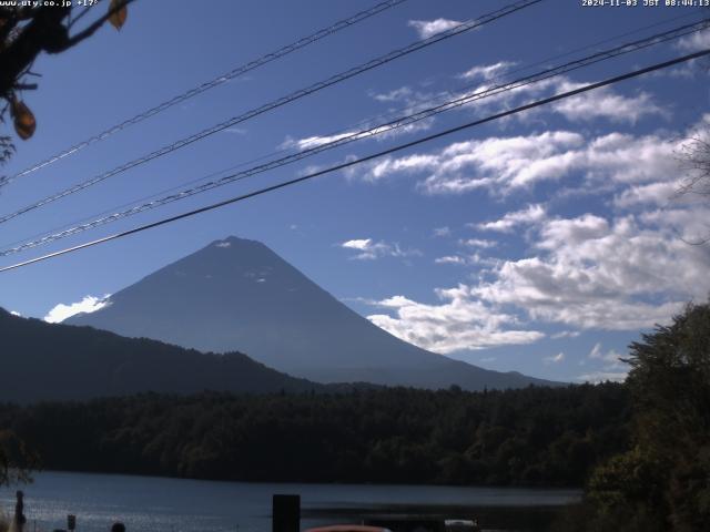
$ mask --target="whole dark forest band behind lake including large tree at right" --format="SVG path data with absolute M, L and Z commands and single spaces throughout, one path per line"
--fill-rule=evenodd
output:
M 566 388 L 4 403 L 0 481 L 17 480 L 13 464 L 20 473 L 582 487 L 555 530 L 708 530 L 710 304 L 642 335 L 626 361 L 623 383 Z

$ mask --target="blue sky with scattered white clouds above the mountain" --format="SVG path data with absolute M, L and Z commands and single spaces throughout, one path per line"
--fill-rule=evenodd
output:
M 17 155 L 1 171 L 12 175 L 374 3 L 224 0 L 204 9 L 186 0 L 139 0 L 120 32 L 104 28 L 83 45 L 37 62 L 40 89 L 23 99 L 38 131 L 18 141 Z M 503 4 L 408 0 L 17 180 L 1 191 L 1 212 Z M 0 244 L 4 249 L 255 157 L 313 145 L 446 91 L 481 90 L 497 76 L 513 76 L 508 81 L 700 17 L 684 7 L 582 8 L 547 0 L 2 224 Z M 480 100 L 396 135 L 328 151 L 0 265 L 708 47 L 706 32 Z M 678 66 L 0 274 L 0 306 L 39 318 L 60 304 L 84 301 L 85 308 L 87 296 L 115 293 L 236 235 L 264 242 L 356 311 L 427 349 L 538 377 L 619 379 L 626 368 L 617 358 L 640 331 L 710 294 L 710 248 L 684 242 L 710 231 L 710 211 L 673 196 L 684 175 L 678 155 L 684 139 L 710 123 L 709 103 L 707 60 Z

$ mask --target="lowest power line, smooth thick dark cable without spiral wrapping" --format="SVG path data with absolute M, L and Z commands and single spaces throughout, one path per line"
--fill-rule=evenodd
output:
M 216 208 L 220 208 L 220 207 L 223 207 L 223 206 L 226 206 L 226 205 L 231 205 L 233 203 L 242 202 L 244 200 L 248 200 L 251 197 L 255 197 L 255 196 L 260 196 L 260 195 L 263 195 L 263 194 L 266 194 L 266 193 L 270 193 L 270 192 L 274 192 L 274 191 L 277 191 L 280 188 L 285 188 L 287 186 L 296 185 L 298 183 L 303 183 L 305 181 L 310 181 L 310 180 L 313 180 L 315 177 L 318 177 L 318 176 L 322 176 L 322 175 L 325 175 L 325 174 L 329 174 L 329 173 L 333 173 L 333 172 L 338 172 L 341 170 L 345 170 L 345 168 L 348 168 L 351 166 L 355 166 L 357 164 L 362 164 L 362 163 L 365 163 L 367 161 L 372 161 L 374 158 L 378 158 L 378 157 L 382 157 L 382 156 L 385 156 L 385 155 L 389 155 L 392 153 L 400 152 L 403 150 L 407 150 L 409 147 L 414 147 L 414 146 L 417 146 L 419 144 L 424 144 L 426 142 L 430 142 L 430 141 L 434 141 L 436 139 L 440 139 L 440 137 L 444 137 L 444 136 L 450 135 L 453 133 L 457 133 L 459 131 L 464 131 L 464 130 L 467 130 L 467 129 L 470 129 L 470 127 L 474 127 L 474 126 L 477 126 L 477 125 L 481 125 L 481 124 L 485 124 L 487 122 L 493 122 L 495 120 L 499 120 L 499 119 L 503 119 L 503 117 L 506 117 L 506 116 L 510 116 L 513 114 L 517 114 L 517 113 L 520 113 L 520 112 L 524 112 L 524 111 L 528 111 L 530 109 L 539 108 L 541 105 L 546 105 L 548 103 L 552 103 L 552 102 L 556 102 L 556 101 L 559 101 L 559 100 L 571 98 L 571 96 L 575 96 L 577 94 L 581 94 L 581 93 L 585 93 L 585 92 L 592 91 L 595 89 L 600 89 L 602 86 L 607 86 L 607 85 L 611 85 L 611 84 L 615 84 L 615 83 L 619 83 L 619 82 L 625 81 L 625 80 L 629 80 L 629 79 L 632 79 L 632 78 L 638 78 L 638 76 L 647 74 L 649 72 L 655 72 L 657 70 L 666 69 L 668 66 L 673 66 L 676 64 L 680 64 L 680 63 L 683 63 L 683 62 L 687 62 L 687 61 L 690 61 L 690 60 L 693 60 L 693 59 L 702 58 L 702 57 L 706 57 L 706 55 L 709 55 L 709 54 L 710 54 L 710 49 L 706 49 L 706 50 L 702 50 L 702 51 L 699 51 L 699 52 L 694 52 L 694 53 L 690 53 L 690 54 L 687 54 L 687 55 L 682 55 L 680 58 L 672 59 L 670 61 L 665 61 L 662 63 L 656 63 L 656 64 L 653 64 L 651 66 L 647 66 L 647 68 L 641 69 L 641 70 L 627 72 L 625 74 L 617 75 L 615 78 L 610 78 L 610 79 L 607 79 L 605 81 L 600 81 L 600 82 L 597 82 L 597 83 L 590 83 L 590 84 L 587 84 L 585 86 L 575 89 L 572 91 L 567 91 L 567 92 L 564 92 L 564 93 L 560 93 L 560 94 L 556 94 L 556 95 L 550 96 L 550 98 L 538 100 L 538 101 L 535 101 L 535 102 L 531 102 L 531 103 L 527 103 L 525 105 L 520 105 L 518 108 L 515 108 L 515 109 L 511 109 L 511 110 L 508 110 L 508 111 L 504 111 L 504 112 L 500 112 L 500 113 L 496 113 L 496 114 L 486 116 L 485 119 L 479 119 L 479 120 L 475 120 L 473 122 L 467 122 L 465 124 L 457 125 L 455 127 L 450 127 L 450 129 L 440 131 L 438 133 L 434 133 L 432 135 L 427 135 L 427 136 L 417 139 L 415 141 L 407 142 L 405 144 L 399 144 L 397 146 L 394 146 L 394 147 L 390 147 L 390 149 L 387 149 L 387 150 L 383 150 L 381 152 L 377 152 L 377 153 L 374 153 L 374 154 L 371 154 L 371 155 L 366 155 L 365 157 L 358 158 L 356 161 L 348 161 L 348 162 L 345 162 L 345 163 L 341 163 L 341 164 L 331 166 L 331 167 L 325 168 L 325 170 L 313 172 L 313 173 L 306 174 L 306 175 L 301 176 L 301 177 L 295 177 L 295 178 L 290 180 L 290 181 L 285 181 L 285 182 L 282 182 L 282 183 L 278 183 L 278 184 L 275 184 L 275 185 L 266 186 L 264 188 L 258 188 L 258 190 L 250 192 L 247 194 L 242 194 L 240 196 L 235 196 L 235 197 L 232 197 L 232 198 L 229 198 L 229 200 L 224 200 L 222 202 L 213 203 L 211 205 L 207 205 L 207 206 L 204 206 L 204 207 L 200 207 L 200 208 L 196 208 L 196 209 L 193 209 L 193 211 L 189 211 L 186 213 L 182 213 L 182 214 L 179 214 L 179 215 L 175 215 L 175 216 L 163 218 L 163 219 L 160 219 L 158 222 L 152 222 L 150 224 L 141 225 L 139 227 L 134 227 L 134 228 L 129 229 L 129 231 L 124 231 L 124 232 L 121 232 L 121 233 L 115 233 L 113 235 L 104 236 L 104 237 L 98 238 L 95 241 L 91 241 L 91 242 L 87 242 L 87 243 L 83 243 L 83 244 L 79 244 L 77 246 L 72 246 L 72 247 L 68 247 L 68 248 L 64 248 L 64 249 L 60 249 L 58 252 L 49 253 L 47 255 L 42 255 L 42 256 L 36 257 L 36 258 L 31 258 L 29 260 L 17 263 L 17 264 L 13 264 L 13 265 L 10 265 L 10 266 L 4 266 L 4 267 L 0 268 L 0 273 L 8 272 L 8 270 L 11 270 L 11 269 L 17 269 L 17 268 L 20 268 L 20 267 L 23 267 L 23 266 L 29 266 L 30 264 L 39 263 L 39 262 L 47 260 L 47 259 L 50 259 L 50 258 L 53 258 L 53 257 L 58 257 L 58 256 L 61 256 L 61 255 L 73 253 L 73 252 L 78 252 L 79 249 L 97 246 L 99 244 L 103 244 L 103 243 L 106 243 L 106 242 L 110 242 L 110 241 L 115 241 L 118 238 L 123 238 L 125 236 L 134 235 L 134 234 L 141 233 L 143 231 L 148 231 L 148 229 L 152 229 L 152 228 L 155 228 L 155 227 L 160 227 L 162 225 L 166 225 L 166 224 L 170 224 L 170 223 L 173 223 L 173 222 L 178 222 L 179 219 L 183 219 L 183 218 L 189 218 L 189 217 L 195 216 L 197 214 L 206 213 L 209 211 L 214 211 Z

